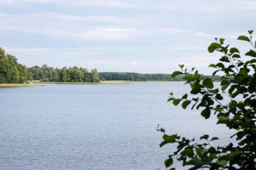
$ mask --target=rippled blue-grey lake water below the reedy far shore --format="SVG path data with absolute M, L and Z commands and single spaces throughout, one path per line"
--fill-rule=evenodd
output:
M 233 133 L 199 111 L 167 102 L 188 93 L 182 82 L 0 88 L 1 170 L 156 170 L 175 146 L 163 134 Z M 185 169 L 175 163 L 177 170 Z

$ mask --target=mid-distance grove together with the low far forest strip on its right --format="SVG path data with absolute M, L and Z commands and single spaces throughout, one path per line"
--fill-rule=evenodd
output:
M 184 81 L 183 75 L 172 78 L 172 74 L 140 74 L 122 72 L 99 72 L 97 69 L 89 71 L 87 68 L 63 67 L 53 68 L 44 64 L 42 67 L 34 66 L 28 68 L 34 80 L 42 82 L 100 82 L 109 80 L 125 81 Z M 202 76 L 203 79 L 210 78 L 213 81 L 221 81 L 221 76 Z

